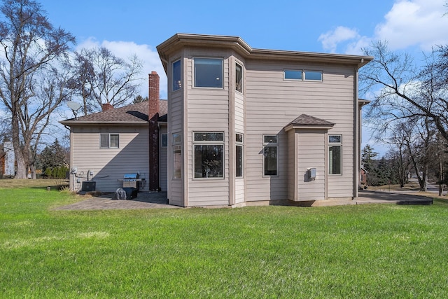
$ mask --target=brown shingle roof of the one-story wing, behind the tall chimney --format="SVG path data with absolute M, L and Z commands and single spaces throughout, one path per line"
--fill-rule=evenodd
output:
M 168 105 L 167 101 L 161 99 L 159 102 L 159 121 L 166 122 Z M 149 103 L 141 102 L 127 106 L 114 108 L 106 111 L 92 113 L 87 116 L 80 116 L 76 120 L 71 118 L 61 123 L 64 125 L 76 125 L 76 123 L 148 123 Z

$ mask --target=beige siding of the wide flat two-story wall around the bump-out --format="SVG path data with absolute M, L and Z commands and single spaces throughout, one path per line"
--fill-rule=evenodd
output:
M 351 136 L 354 132 L 355 103 L 353 67 L 269 62 L 260 64 L 251 60 L 246 61 L 245 67 L 246 200 L 282 200 L 288 197 L 286 170 L 288 148 L 283 127 L 302 113 L 335 123 L 328 134 L 344 136 L 344 174 L 328 179 L 328 196 L 351 196 L 353 189 Z M 283 81 L 283 69 L 322 70 L 323 82 Z M 262 134 L 279 134 L 279 175 L 276 177 L 262 176 Z M 326 148 L 324 150 L 327 151 Z M 337 191 L 330 192 L 331 188 Z

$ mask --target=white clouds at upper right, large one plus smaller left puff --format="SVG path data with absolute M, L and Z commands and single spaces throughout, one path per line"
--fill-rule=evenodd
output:
M 445 4 L 446 0 L 396 0 L 370 36 L 359 34 L 358 29 L 339 26 L 321 34 L 318 41 L 331 53 L 360 54 L 361 48 L 369 46 L 370 41 L 387 41 L 391 50 L 413 46 L 430 50 L 435 45 L 448 43 Z

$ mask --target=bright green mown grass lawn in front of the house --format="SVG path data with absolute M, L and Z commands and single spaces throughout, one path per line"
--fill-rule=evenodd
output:
M 0 298 L 448 298 L 448 203 L 53 211 L 0 183 Z

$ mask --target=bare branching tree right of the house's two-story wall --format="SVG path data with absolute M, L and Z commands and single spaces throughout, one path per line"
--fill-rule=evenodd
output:
M 421 71 L 409 55 L 393 53 L 387 43 L 374 43 L 364 52 L 375 57 L 360 71 L 364 91 L 374 92 L 366 119 L 379 135 L 396 120 L 426 118 L 448 140 L 448 102 L 441 96 L 443 90 L 435 88 L 435 68 Z

